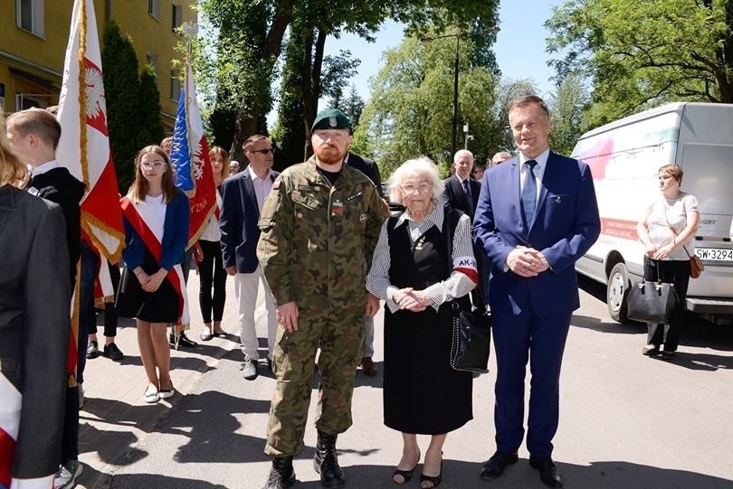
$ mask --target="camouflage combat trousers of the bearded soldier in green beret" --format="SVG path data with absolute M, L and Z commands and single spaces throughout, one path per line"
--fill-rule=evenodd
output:
M 336 435 L 352 424 L 351 397 L 364 347 L 364 307 L 340 311 L 299 307 L 298 331 L 278 326 L 273 353 L 277 386 L 267 426 L 269 456 L 295 456 L 303 448 L 316 351 L 319 405 L 316 428 Z

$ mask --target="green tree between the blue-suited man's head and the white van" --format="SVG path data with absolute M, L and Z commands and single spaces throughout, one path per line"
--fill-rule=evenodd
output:
M 552 119 L 549 145 L 557 153 L 570 155 L 578 138 L 585 132 L 583 111 L 589 100 L 585 80 L 579 73 L 568 74 L 547 100 Z

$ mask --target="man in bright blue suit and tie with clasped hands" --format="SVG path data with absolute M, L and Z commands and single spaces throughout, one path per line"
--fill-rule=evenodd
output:
M 509 126 L 519 156 L 484 174 L 473 221 L 476 245 L 492 264 L 489 303 L 497 361 L 497 450 L 483 464 L 481 479 L 499 477 L 518 460 L 529 360 L 529 465 L 544 484 L 562 487 L 552 438 L 567 332 L 580 306 L 575 263 L 598 238 L 601 225 L 588 166 L 547 146 L 545 102 L 534 95 L 514 100 Z

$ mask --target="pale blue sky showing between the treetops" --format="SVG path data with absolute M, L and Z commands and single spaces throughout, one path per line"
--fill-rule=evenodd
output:
M 500 4 L 500 33 L 494 45 L 501 75 L 505 79 L 525 79 L 535 81 L 542 97 L 549 95 L 552 83 L 548 80 L 553 71 L 547 67 L 549 56 L 545 52 L 545 39 L 549 35 L 545 21 L 552 12 L 553 5 L 562 5 L 564 0 L 503 0 Z M 328 38 L 326 52 L 336 53 L 349 50 L 361 60 L 357 75 L 351 82 L 357 87 L 359 95 L 369 98 L 368 81 L 383 66 L 382 53 L 394 48 L 402 41 L 402 27 L 393 22 L 383 25 L 375 35 L 376 42 L 370 43 L 352 34 L 344 34 L 340 39 Z M 321 104 L 321 108 L 324 108 Z

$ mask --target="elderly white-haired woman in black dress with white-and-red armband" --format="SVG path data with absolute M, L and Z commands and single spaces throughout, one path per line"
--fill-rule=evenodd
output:
M 385 424 L 403 438 L 393 481 L 412 478 L 421 455 L 417 435 L 430 435 L 420 476 L 428 489 L 442 481 L 448 432 L 472 418 L 471 373 L 449 362 L 452 305 L 465 302 L 478 280 L 471 221 L 437 200 L 443 181 L 428 158 L 397 168 L 389 193 L 405 212 L 382 227 L 367 289 L 386 300 Z

